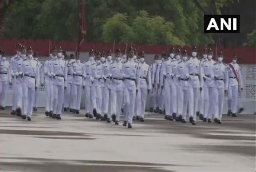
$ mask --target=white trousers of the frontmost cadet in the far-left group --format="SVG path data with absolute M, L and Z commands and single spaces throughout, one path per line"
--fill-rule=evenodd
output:
M 31 117 L 35 100 L 35 87 L 28 87 L 24 84 L 22 93 L 22 114 Z

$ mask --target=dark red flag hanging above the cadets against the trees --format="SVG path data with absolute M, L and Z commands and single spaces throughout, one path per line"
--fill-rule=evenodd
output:
M 78 15 L 78 43 L 77 43 L 77 52 L 80 52 L 80 46 L 84 42 L 84 35 L 86 34 L 86 18 L 85 18 L 85 9 L 84 9 L 84 0 L 79 0 L 79 15 Z

